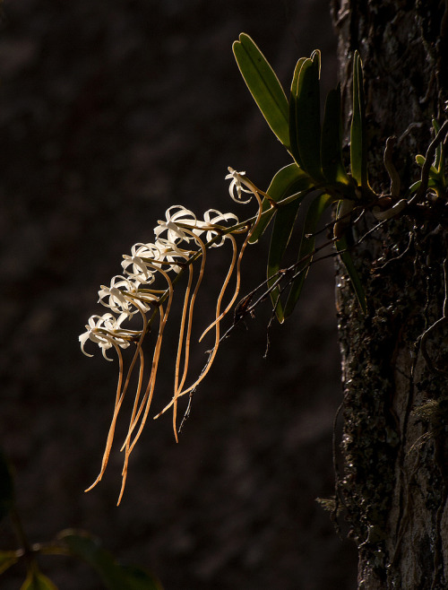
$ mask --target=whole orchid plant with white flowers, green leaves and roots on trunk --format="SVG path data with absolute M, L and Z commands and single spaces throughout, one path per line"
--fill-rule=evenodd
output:
M 255 187 L 254 183 L 246 178 L 245 172 L 229 168 L 226 176 L 230 181 L 229 194 L 239 204 L 247 204 L 254 197 L 258 207 L 252 217 L 241 222 L 234 213 L 220 213 L 210 209 L 203 214 L 203 220 L 200 220 L 184 206 L 171 206 L 166 213 L 166 219 L 159 221 L 154 230 L 154 242 L 135 244 L 131 254 L 124 256 L 123 274 L 116 275 L 108 287 L 101 286 L 99 302 L 109 311 L 102 316 L 90 317 L 86 332 L 80 336 L 81 347 L 85 354 L 91 356 L 85 350 L 85 346 L 88 341 L 95 343 L 107 360 L 110 360 L 108 351 L 114 349 L 118 357 L 119 370 L 114 412 L 99 476 L 88 490 L 101 480 L 105 472 L 118 413 L 129 390 L 131 378 L 134 373 L 137 375 L 134 406 L 122 446 L 125 459 L 118 503 L 125 490 L 129 456 L 142 434 L 151 410 L 163 334 L 172 307 L 175 286 L 181 275 L 187 274 L 187 285 L 179 326 L 173 395 L 161 412 L 154 416 L 158 418 L 168 410 L 172 411 L 176 440 L 178 400 L 187 394 L 191 399 L 195 388 L 211 369 L 223 337 L 220 333 L 221 320 L 233 308 L 240 291 L 241 260 L 246 247 L 262 237 L 272 220 L 274 222 L 266 281 L 240 301 L 235 309 L 233 325 L 268 298 L 271 299 L 272 317 L 277 317 L 282 323 L 297 305 L 308 269 L 316 260 L 314 255 L 321 248 L 330 245 L 335 246 L 335 253 L 330 256 L 340 257 L 358 300 L 358 306 L 361 312 L 366 314 L 367 301 L 363 285 L 349 253 L 349 247 L 356 246 L 352 233 L 354 225 L 362 217 L 370 215 L 371 219 L 378 222 L 376 227 L 379 227 L 398 215 L 416 214 L 416 205 L 418 211 L 429 210 L 435 201 L 445 198 L 447 185 L 444 177 L 444 152 L 448 122 L 444 122 L 442 126 L 437 122 L 433 123 L 435 139 L 428 147 L 426 157 L 417 156 L 418 165 L 422 170 L 421 178 L 414 185 L 408 188 L 401 187 L 400 178 L 393 166 L 394 138 L 389 138 L 384 151 L 384 166 L 391 178 L 390 192 L 378 195 L 370 187 L 367 173 L 363 72 L 358 52 L 355 52 L 353 57 L 348 171 L 342 155 L 340 85 L 328 93 L 321 124 L 320 52 L 314 51 L 310 57 L 298 60 L 287 98 L 277 75 L 253 39 L 242 33 L 235 41 L 233 51 L 249 91 L 272 132 L 292 158 L 292 163 L 274 175 L 266 192 Z M 249 197 L 246 199 L 245 195 Z M 307 195 L 312 196 L 297 247 L 297 262 L 285 266 L 284 255 L 297 223 L 297 213 Z M 332 230 L 332 237 L 323 246 L 315 247 L 315 236 L 321 231 L 318 230 L 319 222 L 330 205 L 334 206 L 333 221 L 326 229 Z M 373 230 L 369 230 L 368 233 Z M 361 239 L 358 239 L 358 242 Z M 202 284 L 207 252 L 212 247 L 224 245 L 231 248 L 228 273 L 222 282 L 216 302 L 215 317 L 200 339 L 213 330 L 214 343 L 202 373 L 189 384 L 187 378 L 194 304 Z M 196 263 L 199 265 L 199 271 L 194 278 Z M 234 275 L 235 286 L 225 304 L 228 285 Z M 259 291 L 261 294 L 257 295 Z M 140 317 L 141 324 L 138 329 L 134 327 L 134 317 Z M 156 335 L 151 367 L 147 371 L 149 376 L 145 379 L 143 340 L 151 331 Z M 125 368 L 122 350 L 131 346 L 134 347 L 134 354 Z M 189 412 L 189 407 L 190 404 L 185 415 Z

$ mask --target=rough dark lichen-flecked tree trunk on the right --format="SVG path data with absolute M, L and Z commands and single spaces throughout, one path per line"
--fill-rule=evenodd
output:
M 393 161 L 409 187 L 418 178 L 415 155 L 431 142 L 431 119 L 446 118 L 448 3 L 334 0 L 332 17 L 347 109 L 355 49 L 363 59 L 370 182 L 389 193 L 383 151 L 396 135 Z M 337 277 L 344 386 L 337 496 L 358 545 L 363 590 L 448 587 L 448 325 L 428 334 L 429 362 L 421 341 L 444 315 L 446 219 L 444 206 L 429 216 L 422 210 L 356 248 L 367 317 L 347 278 Z

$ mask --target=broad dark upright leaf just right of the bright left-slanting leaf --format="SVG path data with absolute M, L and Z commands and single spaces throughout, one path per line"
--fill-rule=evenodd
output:
M 321 54 L 319 51 L 314 51 L 311 58 L 305 59 L 302 63 L 299 60 L 289 100 L 291 152 L 297 158 L 297 164 L 317 181 L 323 178 L 320 73 Z

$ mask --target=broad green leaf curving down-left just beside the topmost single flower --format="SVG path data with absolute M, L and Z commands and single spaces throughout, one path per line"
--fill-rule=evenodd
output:
M 272 201 L 277 203 L 283 198 L 299 193 L 311 186 L 311 178 L 297 164 L 289 164 L 289 166 L 285 166 L 275 174 L 266 193 L 271 197 Z M 263 218 L 259 221 L 249 240 L 251 244 L 254 244 L 260 239 L 263 231 L 266 230 L 277 211 L 276 208 L 271 206 L 269 200 L 264 197 L 262 203 Z

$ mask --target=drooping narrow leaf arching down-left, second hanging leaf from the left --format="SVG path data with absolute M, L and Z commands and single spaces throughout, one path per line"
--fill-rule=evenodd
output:
M 317 224 L 321 219 L 325 209 L 334 202 L 334 197 L 331 195 L 317 195 L 308 207 L 304 228 L 302 231 L 302 239 L 298 249 L 297 265 L 295 274 L 297 275 L 291 283 L 291 289 L 286 302 L 284 316 L 289 317 L 296 307 L 300 293 L 306 279 L 309 267 L 313 261 L 314 252 L 314 232 L 317 229 Z

